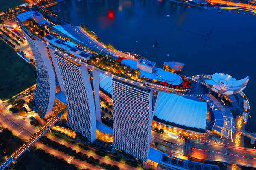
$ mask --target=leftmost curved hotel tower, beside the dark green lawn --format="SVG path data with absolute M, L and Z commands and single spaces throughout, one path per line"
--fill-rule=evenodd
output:
M 50 116 L 55 100 L 56 82 L 55 73 L 46 46 L 32 37 L 25 28 L 21 28 L 32 50 L 36 64 L 36 88 L 32 99 L 38 108 L 41 118 Z

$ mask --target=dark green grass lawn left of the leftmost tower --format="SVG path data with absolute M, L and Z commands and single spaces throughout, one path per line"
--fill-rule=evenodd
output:
M 0 99 L 10 99 L 35 82 L 35 66 L 27 63 L 6 42 L 0 40 Z

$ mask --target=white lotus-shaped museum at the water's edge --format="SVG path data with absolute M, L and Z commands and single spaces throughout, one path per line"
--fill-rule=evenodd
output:
M 241 80 L 236 80 L 232 76 L 224 73 L 215 73 L 210 80 L 205 80 L 206 84 L 218 94 L 235 94 L 246 87 L 249 76 Z

